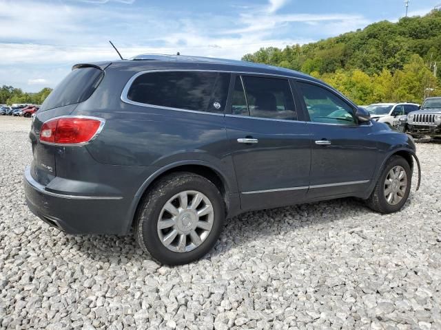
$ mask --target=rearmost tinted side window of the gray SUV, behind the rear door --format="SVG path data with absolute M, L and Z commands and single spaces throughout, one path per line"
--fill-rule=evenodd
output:
M 150 72 L 134 80 L 127 98 L 158 107 L 223 113 L 229 76 L 218 72 Z

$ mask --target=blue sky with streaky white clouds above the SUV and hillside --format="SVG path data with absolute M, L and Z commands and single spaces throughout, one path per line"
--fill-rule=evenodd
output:
M 411 0 L 409 16 L 441 0 Z M 397 21 L 404 0 L 0 0 L 0 86 L 55 87 L 72 65 L 176 54 L 240 59 Z

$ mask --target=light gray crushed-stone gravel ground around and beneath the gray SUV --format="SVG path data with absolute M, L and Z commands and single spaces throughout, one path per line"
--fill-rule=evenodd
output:
M 70 236 L 25 206 L 30 120 L 0 117 L 1 329 L 441 329 L 441 144 L 396 214 L 353 199 L 250 212 L 161 267 L 133 236 Z

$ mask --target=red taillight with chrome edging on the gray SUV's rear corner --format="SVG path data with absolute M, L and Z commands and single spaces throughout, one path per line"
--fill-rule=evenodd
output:
M 43 123 L 40 141 L 48 144 L 85 144 L 92 140 L 105 120 L 91 117 L 59 117 Z

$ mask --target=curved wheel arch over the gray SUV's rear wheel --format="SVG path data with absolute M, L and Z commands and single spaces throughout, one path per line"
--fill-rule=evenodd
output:
M 165 175 L 169 175 L 171 173 L 176 172 L 189 172 L 194 173 L 197 175 L 201 175 L 202 177 L 205 177 L 205 179 L 208 179 L 211 181 L 216 188 L 218 188 L 220 195 L 222 195 L 224 203 L 225 203 L 225 210 L 228 213 L 229 206 L 230 206 L 230 192 L 232 191 L 232 183 L 230 183 L 225 175 L 221 174 L 221 171 L 218 168 L 215 168 L 212 166 L 212 164 L 208 164 L 207 162 L 198 161 L 198 162 L 176 162 L 174 164 L 170 164 L 168 166 L 164 166 L 163 168 L 160 168 L 159 170 L 156 170 L 155 173 L 150 175 L 144 183 L 141 185 L 139 190 L 136 192 L 134 199 L 132 201 L 132 205 L 130 207 L 130 214 L 128 214 L 127 219 L 127 228 L 126 232 L 130 230 L 130 227 L 132 226 L 132 223 L 134 222 L 134 219 L 136 217 L 137 211 L 139 210 L 139 207 L 141 206 L 143 202 L 143 197 L 147 194 L 149 191 L 149 188 L 152 187 L 152 185 L 160 180 L 161 178 L 165 177 Z

